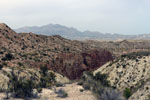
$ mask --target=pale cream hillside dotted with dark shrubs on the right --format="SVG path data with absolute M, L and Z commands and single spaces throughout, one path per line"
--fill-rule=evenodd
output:
M 150 99 L 150 53 L 137 52 L 122 55 L 109 62 L 95 73 L 108 75 L 111 86 L 124 91 L 129 88 L 132 95 L 129 100 Z

